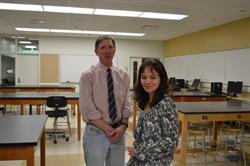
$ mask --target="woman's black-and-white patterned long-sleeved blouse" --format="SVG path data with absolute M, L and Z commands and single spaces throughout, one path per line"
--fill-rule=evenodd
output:
M 140 110 L 134 131 L 135 155 L 128 166 L 168 166 L 178 145 L 178 114 L 172 100 L 165 96 L 148 112 Z

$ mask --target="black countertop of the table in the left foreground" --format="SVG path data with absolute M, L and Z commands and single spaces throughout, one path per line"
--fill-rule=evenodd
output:
M 0 116 L 0 147 L 37 145 L 46 115 Z

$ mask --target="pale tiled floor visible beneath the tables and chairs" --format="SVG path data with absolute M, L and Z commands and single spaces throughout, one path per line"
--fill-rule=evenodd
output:
M 76 121 L 75 117 L 72 116 L 71 125 L 73 126 L 73 134 L 69 142 L 64 139 L 58 139 L 57 144 L 53 144 L 53 140 L 46 139 L 46 166 L 85 166 L 82 150 L 82 141 L 77 141 L 76 139 Z M 52 121 L 47 122 L 47 127 L 50 127 Z M 84 125 L 82 127 L 84 129 Z M 130 145 L 132 143 L 133 137 L 131 131 L 128 130 L 126 133 L 126 143 Z M 238 162 L 231 162 L 224 159 L 223 154 L 219 153 L 217 155 L 216 161 L 214 161 L 212 155 L 207 155 L 207 165 L 208 166 L 236 166 L 240 165 Z M 126 161 L 129 156 L 126 153 Z M 39 147 L 36 149 L 36 166 L 39 166 Z M 204 159 L 201 154 L 188 154 L 187 159 L 188 166 L 203 166 Z M 0 166 L 25 166 L 25 161 L 0 161 Z M 172 166 L 178 166 L 178 161 L 174 161 Z

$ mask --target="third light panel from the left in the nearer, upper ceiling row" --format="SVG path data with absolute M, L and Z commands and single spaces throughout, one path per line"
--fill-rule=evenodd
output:
M 138 17 L 142 14 L 142 12 L 128 10 L 95 9 L 93 14 L 105 16 Z

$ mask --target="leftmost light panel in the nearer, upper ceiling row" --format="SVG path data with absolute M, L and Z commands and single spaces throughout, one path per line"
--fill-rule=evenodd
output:
M 42 5 L 17 4 L 17 3 L 0 3 L 2 10 L 22 10 L 22 11 L 43 11 Z

